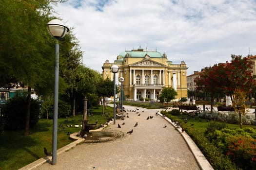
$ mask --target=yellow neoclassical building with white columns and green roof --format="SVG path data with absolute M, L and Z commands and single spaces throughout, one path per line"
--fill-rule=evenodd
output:
M 117 56 L 114 63 L 108 60 L 102 66 L 102 76 L 114 79 L 111 66 L 119 67 L 118 78 L 123 77 L 123 90 L 129 95 L 128 100 L 138 101 L 140 98 L 157 101 L 163 87 L 173 87 L 177 91 L 177 99 L 187 98 L 187 67 L 184 61 L 173 64 L 166 54 L 158 51 L 137 50 L 124 51 Z

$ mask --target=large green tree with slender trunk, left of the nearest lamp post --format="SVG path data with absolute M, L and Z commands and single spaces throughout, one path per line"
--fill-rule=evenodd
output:
M 54 80 L 54 41 L 46 31 L 52 14 L 50 2 L 59 0 L 1 0 L 0 3 L 0 77 L 5 84 L 9 76 L 14 77 L 27 87 L 24 135 L 29 134 L 31 89 L 51 78 Z

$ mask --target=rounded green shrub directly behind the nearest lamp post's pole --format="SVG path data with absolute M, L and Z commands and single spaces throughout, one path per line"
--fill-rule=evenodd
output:
M 53 119 L 53 100 L 43 102 L 41 114 L 43 118 L 47 118 L 47 114 L 48 114 L 48 119 Z M 69 116 L 71 116 L 70 104 L 59 100 L 58 117 L 67 118 Z

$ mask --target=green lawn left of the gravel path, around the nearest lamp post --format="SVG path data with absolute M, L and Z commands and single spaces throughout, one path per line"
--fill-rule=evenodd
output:
M 90 110 L 93 116 L 88 117 L 88 123 L 104 123 L 108 118 L 107 115 L 102 116 L 102 107 L 93 107 Z M 107 113 L 113 113 L 113 108 L 108 107 Z M 66 123 L 65 120 L 70 122 Z M 68 133 L 79 132 L 81 128 L 75 128 L 75 124 L 82 120 L 82 115 L 71 118 L 59 118 L 58 125 L 73 125 L 72 128 L 66 127 L 66 130 L 58 131 L 57 147 L 63 146 L 73 142 L 69 138 Z M 43 147 L 46 147 L 49 151 L 52 150 L 52 119 L 39 119 L 37 125 L 30 129 L 28 136 L 23 136 L 22 131 L 4 131 L 0 133 L 0 170 L 18 170 L 37 159 L 44 157 Z

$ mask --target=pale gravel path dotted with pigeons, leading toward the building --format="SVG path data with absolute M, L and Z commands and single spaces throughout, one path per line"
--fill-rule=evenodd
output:
M 133 106 L 125 109 L 136 110 Z M 122 137 L 79 144 L 58 155 L 56 165 L 45 163 L 36 170 L 199 170 L 182 136 L 165 119 L 156 116 L 156 111 L 139 108 L 140 116 L 129 112 L 129 118 L 117 119 L 115 125 L 103 130 Z M 148 116 L 154 117 L 147 120 Z M 136 122 L 138 126 L 134 127 Z M 165 124 L 167 128 L 163 128 Z M 126 134 L 132 129 L 131 135 Z

